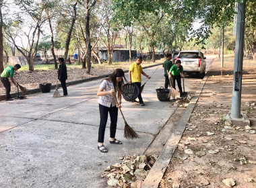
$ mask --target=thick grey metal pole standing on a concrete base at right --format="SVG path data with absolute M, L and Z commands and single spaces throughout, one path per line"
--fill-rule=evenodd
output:
M 243 48 L 245 39 L 245 3 L 238 2 L 236 23 L 236 48 L 234 54 L 234 78 L 232 90 L 231 118 L 241 118 L 241 91 L 243 73 Z

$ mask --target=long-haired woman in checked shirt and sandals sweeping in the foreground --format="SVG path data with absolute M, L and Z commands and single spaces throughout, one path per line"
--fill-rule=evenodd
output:
M 121 68 L 117 68 L 112 75 L 102 80 L 97 95 L 100 109 L 100 128 L 98 129 L 98 150 L 100 152 L 108 152 L 104 142 L 104 134 L 106 122 L 108 120 L 108 113 L 110 115 L 110 144 L 123 144 L 120 140 L 115 138 L 117 130 L 117 114 L 118 108 L 121 108 L 121 85 L 123 85 L 123 77 L 125 73 Z M 115 102 L 113 95 L 116 95 L 119 105 Z

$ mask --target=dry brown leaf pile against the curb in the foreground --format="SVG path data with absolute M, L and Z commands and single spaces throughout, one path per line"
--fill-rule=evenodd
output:
M 108 185 L 122 188 L 140 187 L 156 162 L 154 155 L 127 155 L 119 158 L 121 163 L 106 167 L 102 178 L 108 177 Z

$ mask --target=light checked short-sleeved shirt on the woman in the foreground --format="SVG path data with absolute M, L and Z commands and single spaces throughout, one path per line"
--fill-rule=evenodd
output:
M 110 91 L 114 89 L 114 85 L 112 81 L 103 80 L 102 83 L 100 84 L 100 88 L 104 89 L 104 91 Z M 111 104 L 112 104 L 112 107 L 117 105 L 112 94 L 100 96 L 98 98 L 98 103 L 106 107 L 110 107 Z

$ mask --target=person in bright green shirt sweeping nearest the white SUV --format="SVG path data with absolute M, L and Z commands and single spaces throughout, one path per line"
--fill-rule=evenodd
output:
M 176 64 L 172 65 L 172 67 L 170 68 L 170 83 L 172 84 L 172 88 L 176 89 L 176 80 L 180 93 L 182 93 L 181 78 L 184 81 L 183 66 L 181 65 L 181 60 L 178 59 L 176 60 Z

